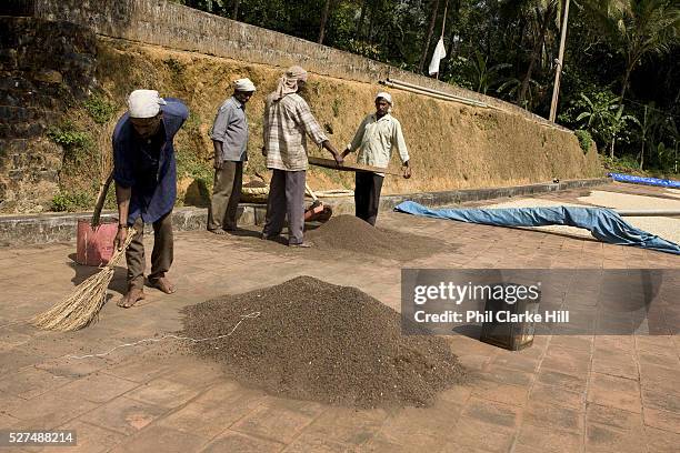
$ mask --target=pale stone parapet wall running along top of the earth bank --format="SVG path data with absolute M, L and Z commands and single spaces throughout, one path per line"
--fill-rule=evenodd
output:
M 20 0 L 14 0 L 16 2 Z M 491 105 L 553 125 L 514 104 L 456 88 L 349 52 L 209 14 L 166 0 L 24 0 L 37 17 L 90 27 L 99 34 L 247 62 L 289 67 L 362 82 L 398 79 Z

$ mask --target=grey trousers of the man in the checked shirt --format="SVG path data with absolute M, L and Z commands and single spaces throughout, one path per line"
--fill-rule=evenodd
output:
M 274 170 L 269 183 L 267 217 L 262 234 L 277 235 L 283 228 L 288 213 L 288 243 L 302 243 L 304 228 L 304 179 L 306 171 Z

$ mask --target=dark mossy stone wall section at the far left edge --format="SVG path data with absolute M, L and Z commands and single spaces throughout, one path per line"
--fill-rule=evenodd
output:
M 10 2 L 11 4 L 11 2 Z M 44 139 L 92 83 L 96 37 L 81 26 L 0 17 L 0 210 L 40 211 L 62 153 Z

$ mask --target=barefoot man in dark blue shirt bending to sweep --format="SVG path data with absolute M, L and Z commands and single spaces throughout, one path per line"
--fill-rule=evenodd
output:
M 130 308 L 144 299 L 144 223 L 153 225 L 153 252 L 149 284 L 164 293 L 174 292 L 166 272 L 172 264 L 172 207 L 177 197 L 177 164 L 172 140 L 189 110 L 178 99 L 159 97 L 154 90 L 134 90 L 128 112 L 113 131 L 113 180 L 118 201 L 120 250 L 128 234 L 137 231 L 127 250 L 128 292 L 118 303 Z

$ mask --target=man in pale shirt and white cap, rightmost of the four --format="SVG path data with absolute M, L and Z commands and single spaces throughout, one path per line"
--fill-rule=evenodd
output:
M 392 157 L 392 149 L 397 148 L 402 162 L 403 178 L 409 179 L 411 178 L 409 151 L 401 132 L 401 124 L 390 114 L 392 105 L 390 93 L 380 92 L 376 95 L 376 113 L 363 119 L 342 157 L 360 150 L 357 157 L 358 163 L 387 168 Z M 359 171 L 356 175 L 354 212 L 359 219 L 366 220 L 371 225 L 374 225 L 378 219 L 383 179 L 383 173 L 368 171 Z

